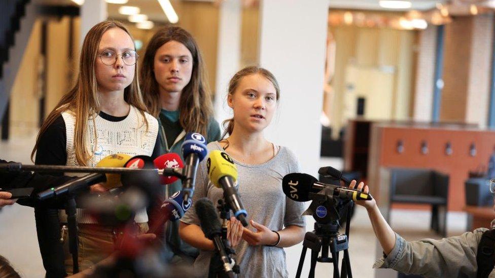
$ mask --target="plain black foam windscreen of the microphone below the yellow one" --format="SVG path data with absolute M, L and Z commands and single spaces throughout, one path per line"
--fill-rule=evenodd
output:
M 217 211 L 213 203 L 207 198 L 199 199 L 194 205 L 194 211 L 199 218 L 201 230 L 203 230 L 207 239 L 213 240 L 215 235 L 222 232 L 222 225 L 218 220 Z

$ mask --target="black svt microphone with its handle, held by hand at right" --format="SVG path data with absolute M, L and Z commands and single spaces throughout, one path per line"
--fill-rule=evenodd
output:
M 323 189 L 330 190 L 330 197 L 339 197 L 343 200 L 373 200 L 370 193 L 365 193 L 358 189 L 321 183 L 315 177 L 308 174 L 290 173 L 282 179 L 282 191 L 291 200 L 297 202 L 310 201 L 311 194 L 318 193 Z

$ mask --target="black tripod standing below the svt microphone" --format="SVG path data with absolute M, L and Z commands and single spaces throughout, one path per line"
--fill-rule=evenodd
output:
M 352 210 L 352 202 L 349 202 L 345 234 L 339 234 L 338 220 L 322 224 L 314 223 L 314 231 L 306 232 L 304 236 L 303 249 L 301 252 L 301 257 L 299 258 L 299 266 L 297 267 L 296 278 L 301 277 L 302 266 L 304 264 L 304 258 L 306 257 L 307 249 L 311 249 L 311 266 L 309 269 L 309 278 L 314 278 L 314 268 L 316 267 L 316 262 L 331 262 L 333 263 L 333 276 L 334 278 L 352 278 L 352 272 L 350 269 L 349 261 L 349 250 L 348 250 L 348 236 L 349 236 L 349 221 L 350 214 Z M 322 256 L 318 257 L 318 254 L 322 251 Z M 332 257 L 329 257 L 329 250 Z M 339 253 L 344 251 L 344 257 L 342 258 L 342 272 L 339 273 Z

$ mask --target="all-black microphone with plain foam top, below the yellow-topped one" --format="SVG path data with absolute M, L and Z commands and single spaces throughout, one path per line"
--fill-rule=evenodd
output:
M 194 205 L 194 210 L 199 218 L 201 230 L 208 240 L 213 241 L 217 249 L 225 273 L 229 277 L 234 277 L 232 265 L 234 261 L 227 254 L 225 242 L 222 240 L 222 225 L 218 219 L 217 211 L 207 198 L 201 198 Z M 211 266 L 210 266 L 211 267 Z

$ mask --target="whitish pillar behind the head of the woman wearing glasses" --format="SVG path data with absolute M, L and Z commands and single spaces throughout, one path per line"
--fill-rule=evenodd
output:
M 81 39 L 80 46 L 83 45 L 86 33 L 96 23 L 107 19 L 107 3 L 104 0 L 86 0 L 81 6 Z

